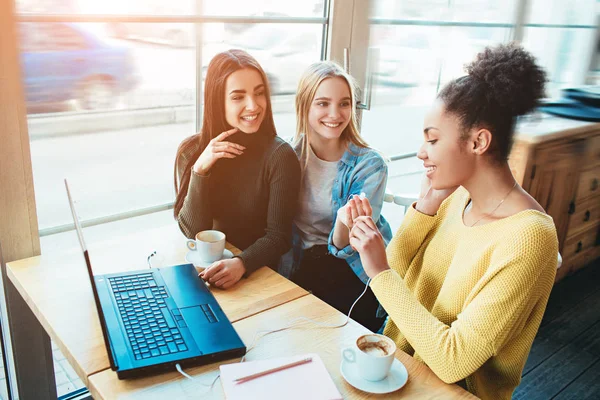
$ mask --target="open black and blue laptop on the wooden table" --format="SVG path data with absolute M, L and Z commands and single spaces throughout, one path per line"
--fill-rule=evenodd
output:
M 95 275 L 65 179 L 111 368 L 119 379 L 241 357 L 246 346 L 192 264 Z

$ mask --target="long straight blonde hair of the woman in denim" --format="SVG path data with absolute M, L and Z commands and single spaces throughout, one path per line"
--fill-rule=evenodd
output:
M 319 61 L 311 64 L 298 83 L 298 91 L 296 92 L 296 134 L 294 135 L 294 143 L 297 144 L 302 136 L 306 136 L 302 145 L 301 160 L 306 160 L 308 157 L 309 132 L 310 125 L 308 122 L 308 113 L 310 106 L 315 98 L 317 89 L 321 82 L 328 78 L 342 78 L 348 85 L 350 90 L 350 101 L 352 102 L 352 116 L 348 126 L 342 132 L 341 139 L 346 142 L 353 143 L 360 148 L 368 148 L 369 145 L 360 136 L 358 131 L 358 122 L 356 120 L 356 83 L 354 78 L 350 76 L 344 69 L 333 61 Z M 306 162 L 303 163 L 303 168 Z

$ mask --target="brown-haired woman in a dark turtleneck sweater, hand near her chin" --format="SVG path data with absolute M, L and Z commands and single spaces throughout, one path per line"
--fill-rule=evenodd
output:
M 217 229 L 242 250 L 201 277 L 227 289 L 257 268 L 276 269 L 291 247 L 300 164 L 277 136 L 266 75 L 242 50 L 208 65 L 201 132 L 175 159 L 175 218 L 185 236 Z

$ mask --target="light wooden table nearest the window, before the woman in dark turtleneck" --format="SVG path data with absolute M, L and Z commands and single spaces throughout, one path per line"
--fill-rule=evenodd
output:
M 104 274 L 147 269 L 147 256 L 153 249 L 157 251 L 152 262 L 154 268 L 186 263 L 184 240 L 178 230 L 147 230 L 126 239 L 108 240 L 88 247 L 94 274 Z M 239 252 L 231 245 L 227 247 L 234 253 Z M 10 312 L 9 306 L 14 324 L 27 325 L 28 331 L 37 331 L 42 337 L 49 335 L 86 386 L 90 375 L 110 368 L 85 261 L 79 249 L 11 262 L 7 265 L 7 276 L 18 292 L 13 296 L 16 300 L 13 305 L 22 300 L 26 304 L 14 312 Z M 232 322 L 308 294 L 267 267 L 227 291 L 215 288 L 212 292 Z M 28 310 L 33 316 L 27 315 Z M 40 348 L 33 346 L 31 350 L 39 352 Z M 17 356 L 22 359 L 39 357 L 36 354 Z M 52 362 L 46 364 L 50 364 L 46 367 L 53 367 Z M 31 371 L 27 375 L 35 376 Z M 53 381 L 53 372 L 48 375 Z

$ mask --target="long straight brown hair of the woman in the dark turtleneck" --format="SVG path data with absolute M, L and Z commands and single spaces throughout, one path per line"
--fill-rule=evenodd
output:
M 243 50 L 227 50 L 214 56 L 208 64 L 206 79 L 204 81 L 202 128 L 200 129 L 200 133 L 192 135 L 181 142 L 177 149 L 177 156 L 175 157 L 175 206 L 173 207 L 175 218 L 179 215 L 183 201 L 187 196 L 192 166 L 212 139 L 232 128 L 225 119 L 225 83 L 231 74 L 245 68 L 258 71 L 265 85 L 267 109 L 257 134 L 277 135 L 275 122 L 273 121 L 273 109 L 271 108 L 269 81 L 260 64 L 254 57 Z M 186 154 L 191 147 L 198 145 L 198 150 L 187 159 L 186 164 L 183 166 L 181 179 L 178 179 L 178 165 L 182 154 Z

